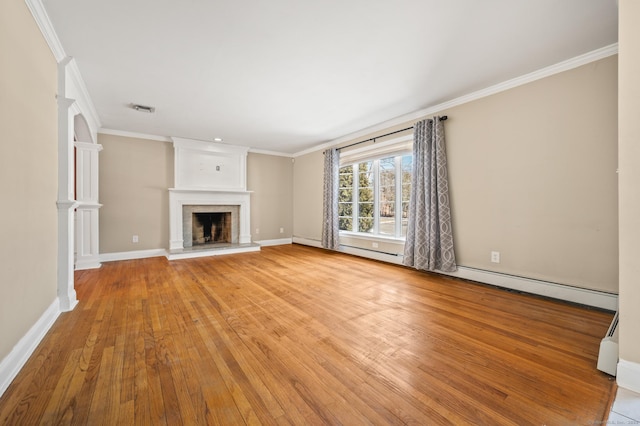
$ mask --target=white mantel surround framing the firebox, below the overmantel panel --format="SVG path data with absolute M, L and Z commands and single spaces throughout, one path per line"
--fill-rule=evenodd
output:
M 206 189 L 169 189 L 169 237 L 170 250 L 184 248 L 182 233 L 182 207 L 187 205 L 240 206 L 239 239 L 240 244 L 251 243 L 251 191 L 218 191 Z

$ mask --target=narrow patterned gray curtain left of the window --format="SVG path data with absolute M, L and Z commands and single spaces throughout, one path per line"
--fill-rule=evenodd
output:
M 324 152 L 324 193 L 322 216 L 322 247 L 340 248 L 338 225 L 338 188 L 340 178 L 340 151 L 336 148 Z

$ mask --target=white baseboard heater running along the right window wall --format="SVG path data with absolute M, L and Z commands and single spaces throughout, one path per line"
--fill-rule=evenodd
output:
M 312 247 L 322 248 L 320 241 L 307 238 L 294 237 L 293 242 Z M 381 260 L 383 262 L 395 263 L 402 265 L 402 256 L 395 256 L 386 253 L 380 253 L 372 250 L 358 249 L 354 247 L 340 246 L 343 253 L 353 254 L 356 256 L 366 257 L 369 259 Z M 606 293 L 603 291 L 589 290 L 580 287 L 573 287 L 564 284 L 557 284 L 547 281 L 535 280 L 532 278 L 517 277 L 514 275 L 502 274 L 499 272 L 485 271 L 481 269 L 468 268 L 458 266 L 456 272 L 439 272 L 444 275 L 463 278 L 471 281 L 477 281 L 483 284 L 495 285 L 498 287 L 508 288 L 511 290 L 523 291 L 526 293 L 536 294 L 538 296 L 551 297 L 554 299 L 564 300 L 567 302 L 579 303 L 581 305 L 593 306 L 596 308 L 607 309 L 609 311 L 618 310 L 618 295 L 614 293 Z

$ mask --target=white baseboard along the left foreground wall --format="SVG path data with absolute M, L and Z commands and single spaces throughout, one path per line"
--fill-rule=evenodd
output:
M 27 363 L 60 313 L 60 301 L 56 298 L 11 352 L 0 361 L 0 397 Z

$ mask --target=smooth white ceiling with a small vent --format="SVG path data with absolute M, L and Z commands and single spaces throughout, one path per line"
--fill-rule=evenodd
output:
M 618 33 L 615 0 L 43 4 L 103 128 L 282 153 L 608 46 Z

